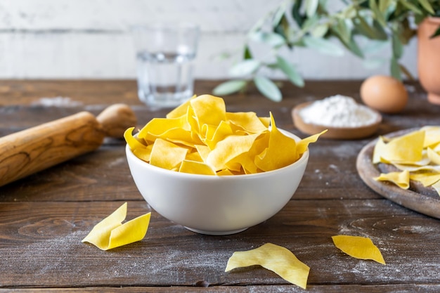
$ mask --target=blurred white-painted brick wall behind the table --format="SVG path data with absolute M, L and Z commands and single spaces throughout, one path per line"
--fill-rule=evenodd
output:
M 195 75 L 226 78 L 245 32 L 281 0 L 0 0 L 0 78 L 134 78 L 130 25 L 191 20 L 202 27 Z M 403 63 L 416 70 L 416 42 Z M 388 74 L 313 51 L 287 53 L 308 79 L 351 79 Z M 270 73 L 269 73 L 270 74 Z

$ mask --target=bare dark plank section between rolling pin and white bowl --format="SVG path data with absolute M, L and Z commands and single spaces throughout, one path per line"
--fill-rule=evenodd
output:
M 0 188 L 1 201 L 141 200 L 124 142 L 58 164 Z

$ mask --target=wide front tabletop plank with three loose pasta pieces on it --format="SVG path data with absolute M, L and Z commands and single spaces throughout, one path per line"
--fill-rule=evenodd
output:
M 311 267 L 310 285 L 439 283 L 440 222 L 388 200 L 292 200 L 272 219 L 243 233 L 192 233 L 153 211 L 141 242 L 101 251 L 81 242 L 122 202 L 1 202 L 2 286 L 285 285 L 261 268 L 224 273 L 234 251 L 273 242 Z M 127 219 L 150 211 L 129 202 Z M 392 216 L 390 216 L 392 214 Z M 337 234 L 370 237 L 387 266 L 353 259 L 332 245 Z M 276 235 L 276 236 L 275 236 Z M 274 237 L 275 236 L 275 237 Z M 26 275 L 27 278 L 23 278 Z

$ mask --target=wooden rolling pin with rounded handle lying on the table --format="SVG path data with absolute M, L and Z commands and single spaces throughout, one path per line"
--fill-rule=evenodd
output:
M 96 150 L 106 136 L 122 138 L 136 126 L 124 104 L 106 108 L 98 117 L 79 112 L 0 138 L 0 186 Z

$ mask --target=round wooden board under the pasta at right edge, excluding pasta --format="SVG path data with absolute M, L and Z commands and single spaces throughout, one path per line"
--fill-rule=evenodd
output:
M 416 129 L 407 129 L 404 131 L 396 131 L 388 134 L 388 138 L 401 136 Z M 377 139 L 371 141 L 363 147 L 359 152 L 356 168 L 359 176 L 366 185 L 375 190 L 383 197 L 401 204 L 403 207 L 418 211 L 421 214 L 432 216 L 440 219 L 440 196 L 436 193 L 434 188 L 424 187 L 422 184 L 410 181 L 410 188 L 404 190 L 387 181 L 375 181 L 373 178 L 380 175 L 380 173 L 387 173 L 389 171 L 396 171 L 394 167 L 388 164 L 373 164 L 373 150 Z

